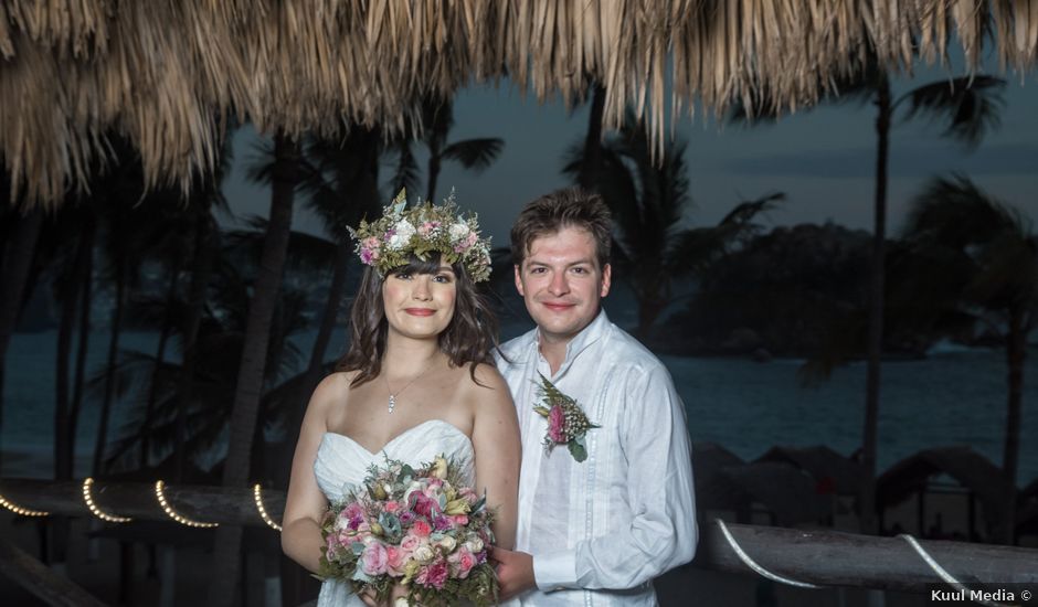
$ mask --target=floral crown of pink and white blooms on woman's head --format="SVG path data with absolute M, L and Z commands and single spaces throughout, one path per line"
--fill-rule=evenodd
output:
M 407 265 L 412 254 L 424 260 L 426 254 L 436 252 L 447 264 L 464 265 L 474 283 L 490 277 L 490 238 L 479 237 L 475 213 L 466 217 L 458 212 L 454 191 L 439 206 L 421 200 L 411 209 L 406 205 L 406 192 L 401 190 L 380 219 L 361 220 L 359 226 L 349 228 L 363 264 L 385 276 Z

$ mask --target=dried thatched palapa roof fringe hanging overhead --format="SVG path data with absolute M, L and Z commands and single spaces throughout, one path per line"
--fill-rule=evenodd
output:
M 512 78 L 539 99 L 606 87 L 664 137 L 700 100 L 811 104 L 869 49 L 886 66 L 949 44 L 979 61 L 992 18 L 1003 65 L 1038 46 L 1038 2 L 1018 0 L 9 0 L 0 4 L 0 155 L 12 194 L 55 203 L 120 132 L 148 183 L 212 168 L 229 116 L 265 131 L 340 120 L 401 128 L 415 102 Z

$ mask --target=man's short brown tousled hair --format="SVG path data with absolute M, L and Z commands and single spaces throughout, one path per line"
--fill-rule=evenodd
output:
M 566 227 L 586 230 L 595 242 L 599 269 L 610 263 L 613 219 L 602 196 L 582 188 L 563 188 L 527 204 L 511 227 L 511 260 L 522 267 L 533 241 Z

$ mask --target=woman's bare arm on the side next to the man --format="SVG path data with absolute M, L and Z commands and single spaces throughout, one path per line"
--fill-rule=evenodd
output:
M 519 462 L 522 446 L 519 422 L 508 384 L 497 369 L 476 369 L 473 395 L 473 448 L 476 451 L 476 491 L 487 492 L 487 503 L 497 509 L 494 535 L 497 545 L 511 549 L 516 542 Z

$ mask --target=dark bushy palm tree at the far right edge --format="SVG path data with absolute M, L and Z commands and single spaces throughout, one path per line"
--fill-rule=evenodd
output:
M 1013 544 L 1024 360 L 1027 337 L 1038 324 L 1038 235 L 1019 212 L 956 175 L 933 180 L 913 199 L 905 239 L 919 262 L 898 281 L 900 298 L 929 311 L 932 327 L 962 326 L 967 319 L 997 332 L 1004 343 L 1008 390 L 1002 540 Z

